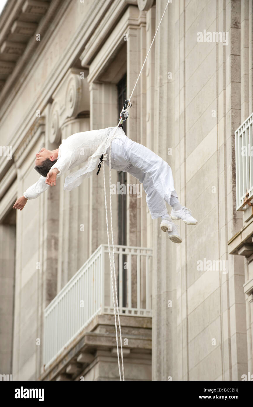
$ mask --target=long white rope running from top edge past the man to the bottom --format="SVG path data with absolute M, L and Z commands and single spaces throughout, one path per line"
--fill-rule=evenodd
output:
M 135 85 L 133 87 L 132 93 L 130 95 L 130 98 L 128 99 L 128 105 L 126 107 L 126 109 L 124 109 L 123 106 L 123 110 L 122 110 L 122 116 L 124 112 L 127 112 L 130 107 L 131 107 L 131 97 L 133 96 L 133 92 L 136 88 L 137 82 L 140 79 L 142 70 L 144 68 L 144 65 L 146 63 L 146 60 L 148 58 L 148 55 L 150 53 L 151 47 L 153 45 L 153 42 L 155 41 L 155 37 L 157 35 L 157 32 L 160 28 L 161 22 L 164 18 L 164 14 L 166 13 L 168 4 L 170 3 L 170 0 L 168 0 L 168 3 L 165 7 L 164 13 L 161 17 L 161 20 L 158 24 L 157 30 L 155 32 L 153 41 L 151 42 L 151 45 L 149 47 L 148 53 L 146 55 L 146 58 L 144 60 L 144 63 L 142 65 L 142 69 L 140 70 L 139 76 L 137 77 L 137 80 L 135 82 Z M 121 117 L 122 117 L 121 116 Z M 114 239 L 113 239 L 113 225 L 112 225 L 112 205 L 111 205 L 111 142 L 115 136 L 115 133 L 120 125 L 121 122 L 121 118 L 120 121 L 113 133 L 113 135 L 111 136 L 111 140 L 110 140 L 110 149 L 109 149 L 109 187 L 110 187 L 110 216 L 111 216 L 111 241 L 112 241 L 112 258 L 113 258 L 113 274 L 114 274 L 114 284 L 113 284 L 113 276 L 112 276 L 112 267 L 111 267 L 111 249 L 110 249 L 110 239 L 109 239 L 109 227 L 108 227 L 108 215 L 107 215 L 107 199 L 106 199 L 106 190 L 105 190 L 105 164 L 103 165 L 103 173 L 104 173 L 104 190 L 105 190 L 105 213 L 106 213 L 106 227 L 107 227 L 107 240 L 108 240 L 108 251 L 109 251 L 109 260 L 110 260 L 110 269 L 111 269 L 111 287 L 112 287 L 112 297 L 113 297 L 113 311 L 114 311 L 114 319 L 115 319 L 115 330 L 116 330 L 116 344 L 117 344 L 117 355 L 118 355 L 118 367 L 119 367 L 119 373 L 120 373 L 120 380 L 123 379 L 123 381 L 125 380 L 124 378 L 124 361 L 123 361 L 123 351 L 122 351 L 122 335 L 121 335 L 121 325 L 120 325 L 120 313 L 119 313 L 119 307 L 118 307 L 118 295 L 117 295 L 117 282 L 116 282 L 116 270 L 115 270 L 115 258 L 114 258 Z M 102 163 L 101 163 L 102 164 Z M 116 312 L 115 312 L 115 298 L 114 298 L 114 290 L 115 290 L 115 297 L 116 297 L 116 307 L 117 307 L 117 314 L 118 314 L 118 322 L 119 322 L 119 330 L 120 330 L 120 351 L 121 351 L 121 363 L 122 363 L 122 379 L 121 379 L 121 370 L 120 370 L 120 356 L 119 356 L 119 346 L 118 346 L 118 329 L 117 329 L 117 319 L 116 319 Z

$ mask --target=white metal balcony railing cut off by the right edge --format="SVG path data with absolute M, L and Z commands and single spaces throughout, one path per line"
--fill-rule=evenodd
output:
M 246 194 L 253 198 L 253 113 L 235 131 L 236 138 L 236 210 L 245 206 Z

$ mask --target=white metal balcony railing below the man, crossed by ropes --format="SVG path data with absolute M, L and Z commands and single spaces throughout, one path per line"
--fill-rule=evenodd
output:
M 151 317 L 152 249 L 115 245 L 121 315 Z M 50 365 L 97 314 L 113 314 L 109 252 L 100 245 L 44 311 L 44 364 Z

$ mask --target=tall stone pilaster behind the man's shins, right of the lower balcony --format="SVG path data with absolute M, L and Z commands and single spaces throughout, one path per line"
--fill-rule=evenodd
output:
M 156 4 L 156 27 L 166 7 L 166 0 Z M 172 167 L 173 155 L 168 156 L 168 147 L 174 147 L 174 84 L 168 77 L 174 67 L 174 3 L 169 4 L 164 20 L 155 40 L 155 111 L 154 144 L 155 153 Z M 168 160 L 168 157 L 170 160 Z M 175 268 L 172 247 L 168 236 L 160 229 L 160 220 L 153 221 L 153 325 L 152 325 L 152 378 L 168 380 L 175 377 L 173 352 L 176 353 L 175 324 L 177 318 Z M 182 236 L 183 237 L 183 236 Z M 176 248 L 173 248 L 173 253 Z M 183 249 L 183 248 L 182 248 Z M 168 308 L 168 301 L 172 307 Z

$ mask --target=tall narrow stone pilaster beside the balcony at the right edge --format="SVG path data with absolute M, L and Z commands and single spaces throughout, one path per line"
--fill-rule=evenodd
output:
M 220 258 L 229 260 L 228 274 L 221 275 L 222 374 L 223 380 L 233 381 L 241 380 L 247 365 L 244 264 L 240 256 L 228 256 L 228 247 L 223 242 L 229 241 L 240 230 L 242 217 L 241 212 L 236 212 L 234 132 L 249 114 L 247 3 L 248 0 L 244 2 L 231 0 L 227 2 L 225 10 L 219 5 L 220 25 L 217 30 L 228 31 L 229 35 L 228 46 L 222 44 L 218 46 L 220 113 L 218 182 Z M 222 81 L 224 77 L 225 83 Z

